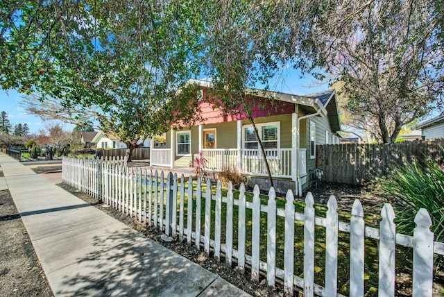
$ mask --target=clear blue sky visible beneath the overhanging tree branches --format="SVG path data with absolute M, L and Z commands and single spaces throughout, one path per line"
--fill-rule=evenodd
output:
M 288 70 L 288 69 L 287 69 Z M 278 80 L 274 80 L 270 85 L 273 91 L 279 91 L 289 94 L 305 95 L 327 90 L 327 84 L 318 85 L 319 82 L 311 76 L 299 78 L 296 71 L 288 70 L 279 76 Z M 260 88 L 260 86 L 258 86 Z M 15 90 L 0 90 L 0 112 L 6 111 L 8 119 L 12 127 L 17 124 L 28 124 L 31 133 L 37 133 L 38 130 L 45 128 L 45 123 L 32 114 L 26 114 L 24 109 L 19 105 L 22 101 L 23 94 L 19 94 Z M 65 130 L 71 130 L 74 126 L 70 124 L 62 124 Z

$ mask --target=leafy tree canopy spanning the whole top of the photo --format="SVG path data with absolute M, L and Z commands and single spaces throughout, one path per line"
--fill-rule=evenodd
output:
M 0 87 L 57 99 L 74 118 L 92 110 L 133 146 L 193 124 L 189 78 L 210 78 L 239 112 L 254 103 L 246 87 L 295 67 L 342 81 L 348 111 L 392 142 L 442 100 L 443 15 L 442 0 L 7 1 Z

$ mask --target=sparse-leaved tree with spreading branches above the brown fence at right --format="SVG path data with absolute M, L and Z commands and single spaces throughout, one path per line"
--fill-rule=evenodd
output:
M 441 4 L 440 4 L 441 3 Z M 442 1 L 321 1 L 305 44 L 311 67 L 342 83 L 355 126 L 395 142 L 443 103 Z M 364 123 L 359 123 L 365 119 Z

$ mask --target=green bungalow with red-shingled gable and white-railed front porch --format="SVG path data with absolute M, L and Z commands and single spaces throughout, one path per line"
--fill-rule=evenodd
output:
M 206 100 L 211 89 L 208 82 L 193 80 L 200 85 L 199 107 L 203 121 L 193 127 L 171 129 L 166 133 L 164 148 L 151 144 L 151 165 L 189 168 L 203 151 L 208 170 L 227 167 L 239 170 L 251 184 L 268 189 L 268 178 L 262 151 L 253 126 L 246 114 L 223 114 Z M 337 144 L 341 130 L 336 92 L 328 90 L 307 96 L 246 90 L 264 106 L 275 99 L 275 108 L 253 108 L 253 118 L 259 130 L 266 156 L 278 192 L 292 189 L 302 195 L 310 183 L 316 166 L 316 144 Z M 258 96 L 259 94 L 259 96 Z M 276 108 L 277 107 L 277 108 Z M 154 142 L 154 140 L 153 140 Z

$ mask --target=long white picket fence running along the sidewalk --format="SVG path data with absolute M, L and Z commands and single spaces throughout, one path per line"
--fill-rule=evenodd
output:
M 299 213 L 295 212 L 291 191 L 287 192 L 285 207 L 281 209 L 276 207 L 273 188 L 268 193 L 268 203 L 263 205 L 257 186 L 253 191 L 253 201 L 249 202 L 246 201 L 244 185 L 241 185 L 239 198 L 236 199 L 233 198 L 231 184 L 227 196 L 222 195 L 221 183 L 217 184 L 216 194 L 212 194 L 210 180 L 207 180 L 203 192 L 200 179 L 194 183 L 196 189 L 193 189 L 191 176 L 185 187 L 186 180 L 183 175 L 178 178 L 169 173 L 165 178 L 163 171 L 160 174 L 157 171 L 148 173 L 146 169 L 133 171 L 122 161 L 64 158 L 62 171 L 65 183 L 102 198 L 104 203 L 123 214 L 135 217 L 148 226 L 155 226 L 168 236 L 178 237 L 188 244 L 194 244 L 198 250 L 203 244 L 206 253 L 209 254 L 211 250 L 218 260 L 224 255 L 225 262 L 229 265 L 237 262 L 239 270 L 244 270 L 248 265 L 253 280 L 259 280 L 259 273 L 264 273 L 270 287 L 274 287 L 278 280 L 283 281 L 284 293 L 289 295 L 292 295 L 293 289 L 298 287 L 302 288 L 304 296 L 342 296 L 337 292 L 339 232 L 350 233 L 350 296 L 365 294 L 364 239 L 366 238 L 379 242 L 379 296 L 395 296 L 397 245 L 413 249 L 413 296 L 432 296 L 434 254 L 444 255 L 444 244 L 434 242 L 434 234 L 429 230 L 432 221 L 424 209 L 416 214 L 417 227 L 411 237 L 396 234 L 393 223 L 395 214 L 388 203 L 382 208 L 382 221 L 378 230 L 365 226 L 364 211 L 359 200 L 356 200 L 352 206 L 350 223 L 345 223 L 338 219 L 334 196 L 331 196 L 327 203 L 326 217 L 316 217 L 311 193 L 305 198 L 304 213 Z M 201 207 L 204 205 L 205 211 L 202 214 Z M 237 222 L 233 221 L 234 207 L 237 207 Z M 225 212 L 222 212 L 222 209 Z M 251 219 L 246 216 L 248 209 L 252 212 Z M 261 214 L 266 216 L 266 230 L 261 230 Z M 284 230 L 277 230 L 277 219 L 284 220 Z M 222 223 L 223 220 L 225 224 Z M 295 223 L 298 222 L 303 222 L 304 228 L 302 278 L 293 273 Z M 238 228 L 234 230 L 236 223 Z M 250 223 L 252 224 L 251 255 L 247 255 L 246 226 Z M 323 226 L 326 234 L 324 287 L 314 283 L 315 226 Z M 261 232 L 266 232 L 266 242 L 260 240 Z M 284 235 L 280 234 L 282 232 Z M 233 244 L 234 234 L 237 234 L 237 247 Z M 278 235 L 284 237 L 283 268 L 276 265 Z M 266 261 L 260 259 L 261 246 L 266 246 Z

